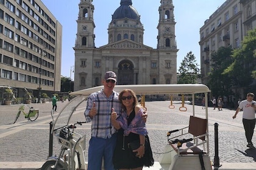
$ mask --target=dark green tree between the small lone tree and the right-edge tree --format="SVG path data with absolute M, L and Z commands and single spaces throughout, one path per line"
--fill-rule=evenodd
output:
M 211 55 L 211 70 L 208 73 L 208 84 L 212 94 L 218 96 L 228 96 L 232 94 L 232 77 L 225 75 L 224 70 L 233 62 L 232 49 L 230 47 L 220 47 L 217 52 Z

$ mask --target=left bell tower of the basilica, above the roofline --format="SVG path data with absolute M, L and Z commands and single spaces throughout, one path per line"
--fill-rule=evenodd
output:
M 93 0 L 80 0 L 77 19 L 76 47 L 94 48 Z

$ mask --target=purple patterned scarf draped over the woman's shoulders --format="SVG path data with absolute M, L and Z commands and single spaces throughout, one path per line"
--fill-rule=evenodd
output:
M 118 117 L 119 124 L 124 129 L 124 135 L 129 135 L 130 132 L 138 135 L 148 135 L 146 130 L 146 124 L 144 120 L 142 120 L 141 115 L 143 114 L 143 109 L 138 110 L 138 114 L 135 114 L 135 117 L 130 122 L 129 126 L 127 126 L 127 113 L 122 112 L 121 116 Z

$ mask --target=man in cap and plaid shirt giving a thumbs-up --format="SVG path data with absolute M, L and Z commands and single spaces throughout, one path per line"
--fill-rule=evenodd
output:
M 88 170 L 98 170 L 104 160 L 104 169 L 113 170 L 113 151 L 116 146 L 116 129 L 112 126 L 110 115 L 112 107 L 120 114 L 121 104 L 118 93 L 113 91 L 116 73 L 106 72 L 102 80 L 104 89 L 88 97 L 85 119 L 91 121 L 91 139 L 88 149 Z

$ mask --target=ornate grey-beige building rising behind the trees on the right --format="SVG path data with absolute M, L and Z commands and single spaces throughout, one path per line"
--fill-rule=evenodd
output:
M 256 28 L 256 0 L 227 0 L 200 29 L 202 83 L 207 84 L 211 54 L 219 47 L 241 47 L 248 30 Z

